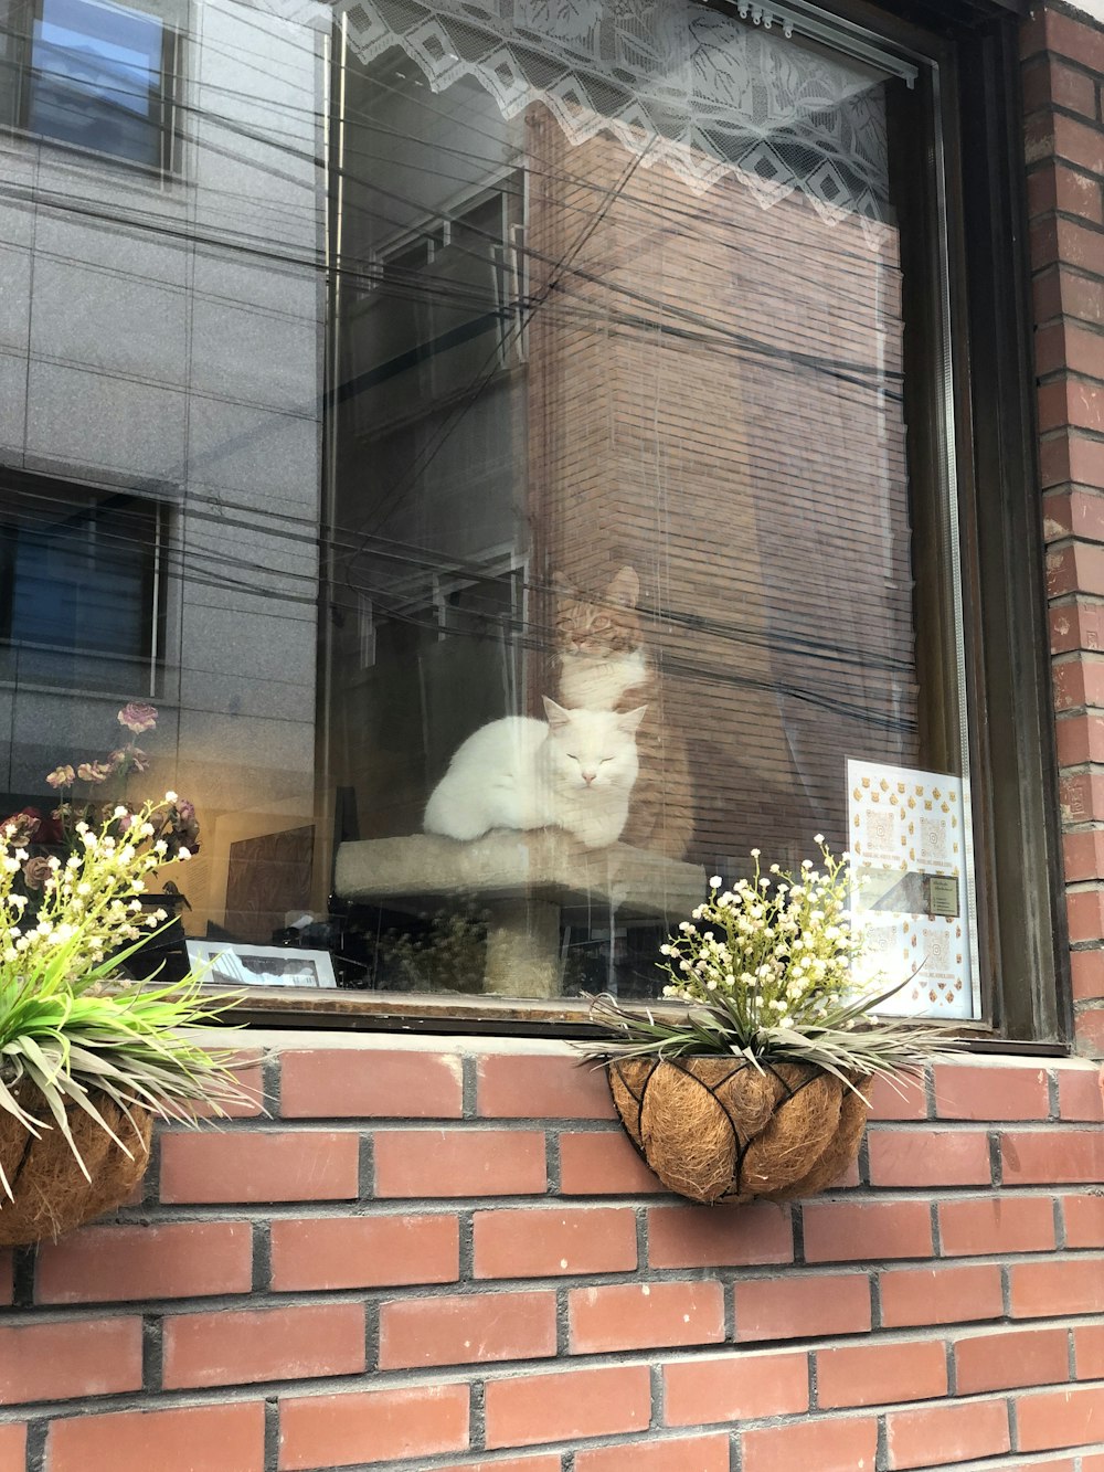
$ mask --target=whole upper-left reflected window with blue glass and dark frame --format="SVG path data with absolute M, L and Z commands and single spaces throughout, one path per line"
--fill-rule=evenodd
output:
M 29 13 L 12 3 L 10 16 L 4 87 L 18 127 L 171 168 L 177 32 L 165 19 L 113 0 L 35 0 Z

